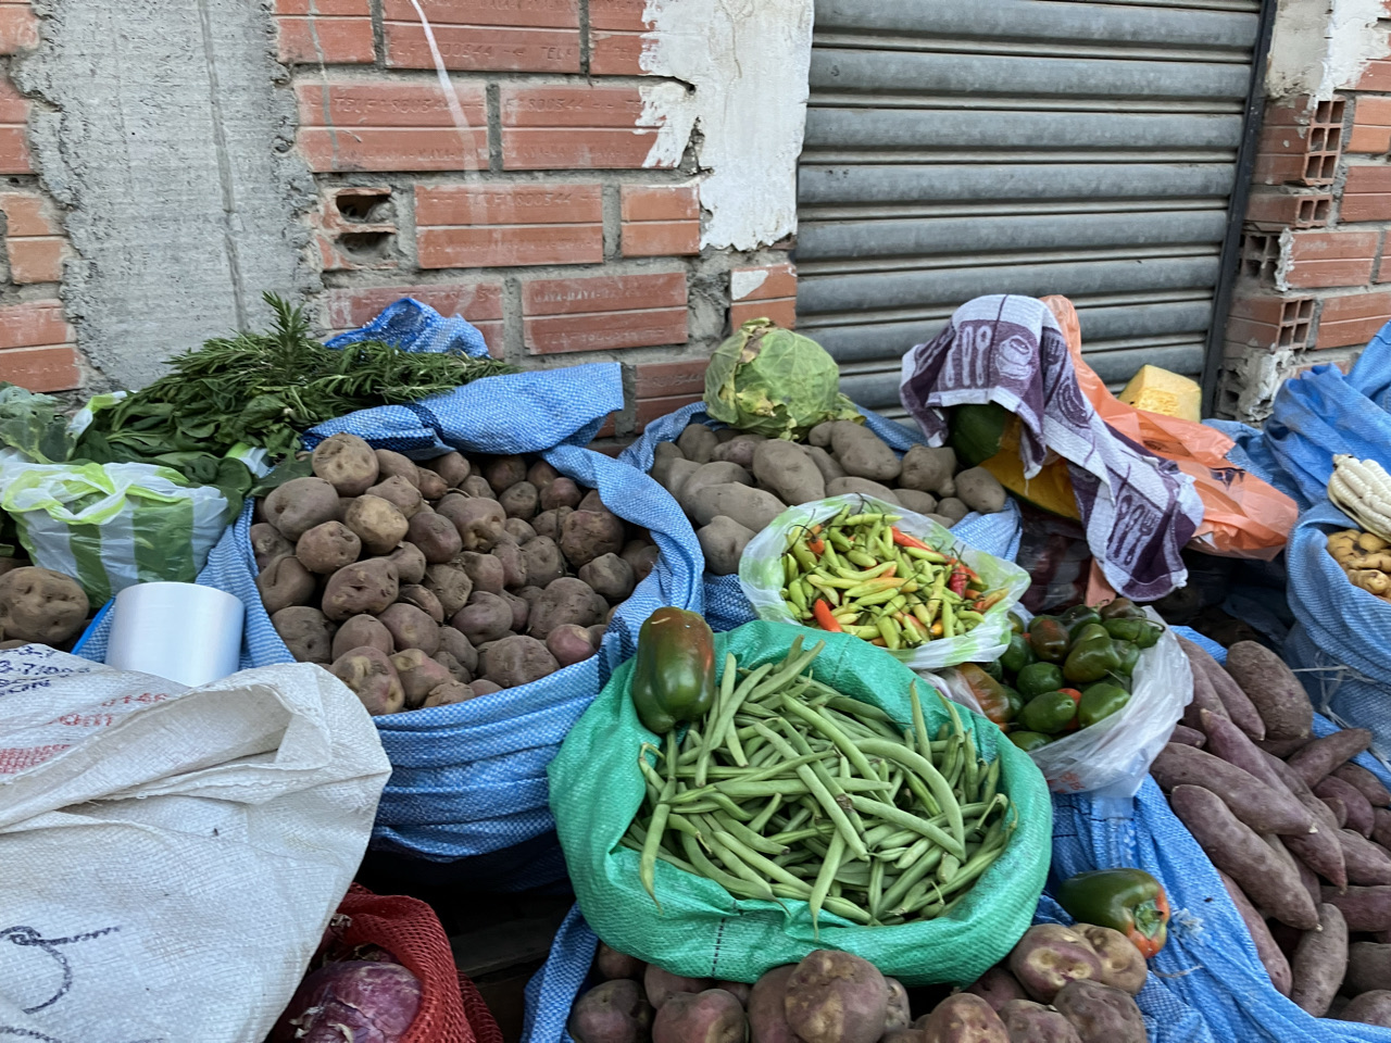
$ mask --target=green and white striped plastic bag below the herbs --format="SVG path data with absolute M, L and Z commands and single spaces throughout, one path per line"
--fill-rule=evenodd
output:
M 102 605 L 136 583 L 192 583 L 231 520 L 214 485 L 149 463 L 0 462 L 0 509 L 35 565 Z

